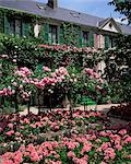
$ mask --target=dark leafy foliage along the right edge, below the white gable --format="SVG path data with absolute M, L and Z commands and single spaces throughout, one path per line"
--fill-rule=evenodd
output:
M 116 49 L 105 54 L 105 75 L 110 85 L 108 96 L 112 103 L 131 101 L 131 36 L 119 35 Z

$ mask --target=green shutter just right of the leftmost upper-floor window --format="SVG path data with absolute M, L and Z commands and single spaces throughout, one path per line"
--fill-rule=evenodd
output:
M 29 23 L 22 22 L 22 36 L 29 36 Z

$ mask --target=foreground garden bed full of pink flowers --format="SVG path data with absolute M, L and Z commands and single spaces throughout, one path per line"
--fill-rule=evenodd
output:
M 0 117 L 1 164 L 130 163 L 131 125 L 100 112 L 53 110 Z

